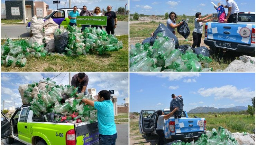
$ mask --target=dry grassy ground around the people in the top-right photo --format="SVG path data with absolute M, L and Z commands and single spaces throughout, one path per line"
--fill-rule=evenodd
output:
M 179 39 L 179 44 L 180 45 L 190 45 L 192 46 L 193 44 L 193 36 L 192 36 L 192 32 L 194 29 L 194 16 L 178 16 L 177 22 L 181 21 L 182 19 L 186 19 L 189 18 L 189 29 L 190 29 L 190 35 L 188 38 L 188 41 L 186 41 L 183 36 L 181 36 L 179 33 L 177 33 L 177 29 L 175 29 L 176 31 L 176 37 Z M 130 45 L 135 45 L 135 43 L 139 42 L 141 43 L 144 39 L 150 37 L 150 34 L 152 32 L 154 32 L 156 30 L 156 28 L 158 27 L 158 25 L 161 22 L 140 22 L 140 23 L 131 23 L 130 24 Z M 166 25 L 166 22 L 162 22 Z M 205 25 L 205 23 L 204 23 Z M 203 42 L 204 39 L 204 33 L 202 35 L 202 39 L 201 42 Z M 201 45 L 203 46 L 203 45 Z M 204 45 L 206 46 L 206 45 Z M 209 48 L 209 46 L 206 46 L 207 48 Z M 224 70 L 225 68 L 227 68 L 227 66 L 234 61 L 235 59 L 237 59 L 239 56 L 243 56 L 243 55 L 249 55 L 249 56 L 253 56 L 255 57 L 255 54 L 246 54 L 246 53 L 241 53 L 241 52 L 234 52 L 234 51 L 227 51 L 225 52 L 225 54 L 223 54 L 222 52 L 216 52 L 215 55 L 210 56 L 213 60 L 213 62 L 211 64 L 209 64 L 209 67 L 213 68 L 213 71 L 216 71 L 217 69 L 221 69 Z

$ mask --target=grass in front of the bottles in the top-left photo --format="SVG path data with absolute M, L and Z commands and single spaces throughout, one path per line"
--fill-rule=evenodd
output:
M 124 47 L 118 51 L 84 56 L 46 56 L 31 58 L 25 67 L 1 66 L 2 71 L 128 71 L 128 35 L 117 36 Z M 16 39 L 18 40 L 18 39 Z M 1 45 L 5 40 L 1 39 Z M 127 117 L 128 118 L 128 117 Z

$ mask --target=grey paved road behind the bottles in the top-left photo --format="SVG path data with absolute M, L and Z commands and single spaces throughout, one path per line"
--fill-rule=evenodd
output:
M 128 22 L 118 21 L 117 28 L 115 29 L 116 35 L 128 35 Z M 26 25 L 1 25 L 1 38 L 27 38 Z

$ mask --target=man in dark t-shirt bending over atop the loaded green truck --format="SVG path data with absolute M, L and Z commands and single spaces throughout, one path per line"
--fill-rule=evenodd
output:
M 79 72 L 72 77 L 71 85 L 75 88 L 78 87 L 77 93 L 84 92 L 84 95 L 89 94 L 87 90 L 87 85 L 89 82 L 89 77 L 84 72 Z

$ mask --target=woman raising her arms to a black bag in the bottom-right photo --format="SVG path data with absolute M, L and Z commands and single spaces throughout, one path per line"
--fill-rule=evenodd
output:
M 165 137 L 164 137 L 164 126 L 165 122 L 164 119 L 169 119 L 173 113 L 178 110 L 179 107 L 175 107 L 172 112 L 169 114 L 164 115 L 164 112 L 158 112 L 158 119 L 157 119 L 157 126 L 156 126 L 156 133 L 158 135 L 158 144 L 157 145 L 163 145 L 165 143 Z

